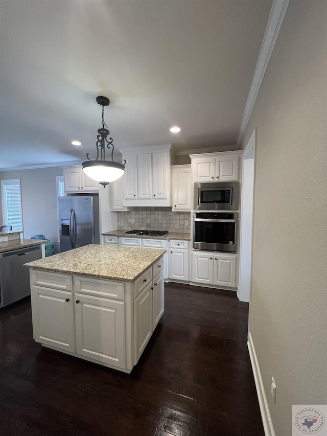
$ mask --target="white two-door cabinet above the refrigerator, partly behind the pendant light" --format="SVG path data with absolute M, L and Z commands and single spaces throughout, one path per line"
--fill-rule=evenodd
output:
M 99 182 L 88 177 L 82 166 L 63 168 L 65 193 L 71 192 L 99 192 Z

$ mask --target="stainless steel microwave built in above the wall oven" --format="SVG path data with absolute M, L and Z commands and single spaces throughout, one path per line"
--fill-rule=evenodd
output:
M 194 183 L 193 209 L 195 211 L 239 210 L 238 181 Z

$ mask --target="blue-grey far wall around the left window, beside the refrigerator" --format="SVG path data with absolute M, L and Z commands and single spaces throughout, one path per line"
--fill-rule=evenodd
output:
M 56 176 L 62 176 L 62 168 L 0 172 L 1 180 L 20 178 L 24 237 L 45 235 L 58 250 Z

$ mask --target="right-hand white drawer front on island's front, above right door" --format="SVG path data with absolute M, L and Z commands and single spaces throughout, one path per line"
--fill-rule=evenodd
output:
M 124 283 L 112 282 L 111 280 L 91 279 L 88 277 L 74 277 L 75 292 L 124 300 Z

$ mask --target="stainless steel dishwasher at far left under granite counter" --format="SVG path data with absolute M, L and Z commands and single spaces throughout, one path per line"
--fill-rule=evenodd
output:
M 1 307 L 30 295 L 30 271 L 23 265 L 41 258 L 41 245 L 0 253 Z

